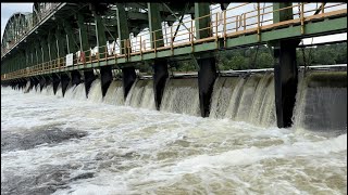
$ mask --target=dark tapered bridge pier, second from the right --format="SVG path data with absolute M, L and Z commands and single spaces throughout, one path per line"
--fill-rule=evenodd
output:
M 202 117 L 210 114 L 210 100 L 213 92 L 214 81 L 216 79 L 215 58 L 199 58 L 198 87 L 199 87 L 199 106 Z

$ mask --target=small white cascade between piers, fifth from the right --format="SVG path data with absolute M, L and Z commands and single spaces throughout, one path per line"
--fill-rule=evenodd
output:
M 121 80 L 113 80 L 110 83 L 103 101 L 107 104 L 124 105 L 123 84 Z

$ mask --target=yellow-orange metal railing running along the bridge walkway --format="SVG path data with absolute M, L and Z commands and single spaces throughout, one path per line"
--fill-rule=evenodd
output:
M 250 4 L 251 6 L 252 4 L 254 4 L 253 10 L 233 15 L 233 13 L 237 13 L 238 9 L 243 10 L 246 6 L 250 6 Z M 315 12 L 320 8 L 320 5 L 322 5 L 320 13 L 313 15 L 312 12 Z M 345 5 L 345 8 L 338 10 L 333 9 L 340 5 Z M 293 10 L 293 20 L 273 23 L 274 13 L 288 9 Z M 263 6 L 261 6 L 261 3 L 243 3 L 222 12 L 211 13 L 209 15 L 197 17 L 195 20 L 182 22 L 181 24 L 174 24 L 166 28 L 141 34 L 132 39 L 119 39 L 114 41 L 111 47 L 98 47 L 98 52 L 96 53 L 94 53 L 91 50 L 79 51 L 78 53 L 73 54 L 73 63 L 70 66 L 66 65 L 65 57 L 58 57 L 50 62 L 40 63 L 25 69 L 20 69 L 13 73 L 1 75 L 1 79 L 3 80 L 28 77 L 66 67 L 75 68 L 76 66 L 80 65 L 83 65 L 83 67 L 86 67 L 87 64 L 91 63 L 97 63 L 99 65 L 100 62 L 105 61 L 108 63 L 108 60 L 116 60 L 121 57 L 129 58 L 133 55 L 140 55 L 142 58 L 142 54 L 149 52 L 157 53 L 160 50 L 171 49 L 172 55 L 174 55 L 173 50 L 183 46 L 191 46 L 194 52 L 194 44 L 201 42 L 215 41 L 217 49 L 219 38 L 223 38 L 225 46 L 227 38 L 245 35 L 248 32 L 258 34 L 258 37 L 260 38 L 260 34 L 262 30 L 273 29 L 286 25 L 300 25 L 301 32 L 303 34 L 306 25 L 304 22 L 309 22 L 313 18 L 323 18 L 338 14 L 347 14 L 346 3 L 294 3 L 290 6 L 277 10 L 273 10 L 273 4 L 263 4 Z M 209 36 L 197 39 L 195 23 L 199 20 L 200 22 L 202 22 L 206 18 L 209 18 L 211 21 L 210 24 L 208 25 L 208 27 L 198 29 L 198 31 L 206 31 Z M 178 28 L 177 32 L 175 34 L 174 30 L 178 25 L 182 27 L 182 29 Z M 156 37 L 158 31 L 161 30 L 162 36 Z M 153 37 L 153 40 L 150 39 L 151 35 Z

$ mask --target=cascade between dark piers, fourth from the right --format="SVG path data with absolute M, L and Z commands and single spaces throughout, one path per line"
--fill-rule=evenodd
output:
M 125 104 L 132 107 L 156 109 L 153 81 L 149 79 L 137 79 L 132 86 Z

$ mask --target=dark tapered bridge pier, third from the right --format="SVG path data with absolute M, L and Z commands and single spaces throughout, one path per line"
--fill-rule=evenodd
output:
M 166 61 L 156 61 L 153 65 L 153 93 L 157 110 L 160 110 L 165 81 L 169 77 Z

